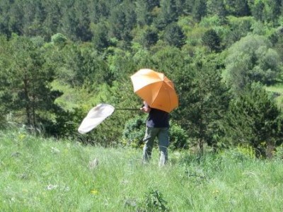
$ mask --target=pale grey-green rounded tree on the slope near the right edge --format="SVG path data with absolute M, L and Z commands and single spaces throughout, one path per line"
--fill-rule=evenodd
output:
M 271 49 L 267 38 L 248 35 L 228 49 L 224 79 L 239 93 L 253 81 L 266 85 L 275 83 L 281 71 L 278 54 Z

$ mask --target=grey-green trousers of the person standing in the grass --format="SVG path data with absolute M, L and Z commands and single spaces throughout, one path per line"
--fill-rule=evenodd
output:
M 156 137 L 158 139 L 158 148 L 160 153 L 159 166 L 163 166 L 168 160 L 168 127 L 158 128 L 146 126 L 146 134 L 144 136 L 143 161 L 144 163 L 147 163 L 151 158 L 152 148 L 154 147 L 154 139 Z

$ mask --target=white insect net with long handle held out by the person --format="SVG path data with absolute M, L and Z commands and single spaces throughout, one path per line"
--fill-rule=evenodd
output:
M 79 133 L 86 134 L 87 132 L 94 129 L 98 124 L 104 121 L 109 117 L 115 110 L 115 107 L 112 105 L 101 103 L 96 107 L 91 108 L 86 117 L 81 122 L 79 126 Z M 139 110 L 136 108 L 117 108 L 116 110 Z

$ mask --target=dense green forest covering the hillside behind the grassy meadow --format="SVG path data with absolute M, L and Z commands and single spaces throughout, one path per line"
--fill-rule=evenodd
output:
M 129 76 L 166 74 L 180 105 L 171 148 L 282 145 L 283 1 L 1 0 L 0 125 L 139 147 L 145 116 L 116 110 L 86 135 L 91 107 L 139 108 Z

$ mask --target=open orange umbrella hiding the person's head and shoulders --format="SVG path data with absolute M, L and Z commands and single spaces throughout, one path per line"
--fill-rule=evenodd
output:
M 171 112 L 178 107 L 178 96 L 174 84 L 163 73 L 151 69 L 140 69 L 131 76 L 134 93 L 150 107 Z

